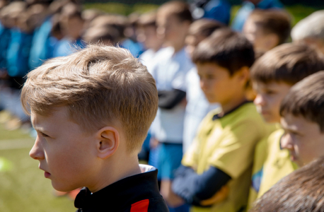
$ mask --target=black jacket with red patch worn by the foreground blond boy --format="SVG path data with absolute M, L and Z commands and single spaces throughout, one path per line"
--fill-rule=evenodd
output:
M 168 212 L 158 191 L 157 174 L 155 169 L 126 177 L 93 194 L 84 187 L 74 206 L 77 212 Z

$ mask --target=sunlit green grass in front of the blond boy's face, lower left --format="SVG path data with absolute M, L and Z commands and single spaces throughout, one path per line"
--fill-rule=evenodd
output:
M 0 125 L 0 211 L 76 211 L 73 201 L 52 195 L 50 179 L 28 155 L 32 146 L 29 136 Z

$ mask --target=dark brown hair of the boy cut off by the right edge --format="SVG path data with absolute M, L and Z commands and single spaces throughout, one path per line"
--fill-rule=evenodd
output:
M 324 71 L 313 73 L 289 90 L 280 107 L 280 115 L 285 114 L 315 122 L 324 132 Z

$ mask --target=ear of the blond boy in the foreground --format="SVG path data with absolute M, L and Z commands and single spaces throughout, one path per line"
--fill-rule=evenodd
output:
M 112 126 L 105 126 L 97 134 L 97 152 L 101 159 L 109 158 L 120 145 L 120 134 Z

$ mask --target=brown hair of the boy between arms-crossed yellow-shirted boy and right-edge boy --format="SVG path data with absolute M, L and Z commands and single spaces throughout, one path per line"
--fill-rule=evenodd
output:
M 255 61 L 250 73 L 252 81 L 294 85 L 321 70 L 324 70 L 324 57 L 320 52 L 307 45 L 289 43 L 265 53 Z

